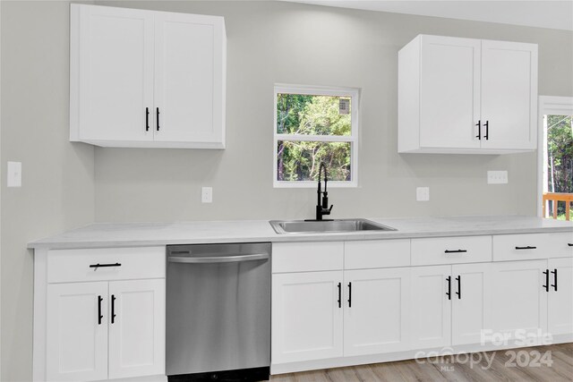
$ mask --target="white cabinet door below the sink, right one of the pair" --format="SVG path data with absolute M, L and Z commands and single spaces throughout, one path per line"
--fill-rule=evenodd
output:
M 410 269 L 351 270 L 344 278 L 344 355 L 407 350 Z

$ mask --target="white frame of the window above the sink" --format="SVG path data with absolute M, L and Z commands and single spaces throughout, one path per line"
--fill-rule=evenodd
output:
M 278 134 L 277 132 L 277 95 L 278 94 L 305 94 L 310 96 L 338 96 L 350 98 L 350 121 L 352 123 L 351 135 L 306 135 L 306 134 Z M 350 181 L 329 181 L 329 188 L 358 187 L 358 115 L 360 110 L 360 90 L 355 88 L 339 88 L 312 85 L 291 85 L 277 83 L 274 89 L 274 124 L 273 124 L 273 187 L 275 188 L 316 188 L 313 181 L 278 181 L 277 180 L 277 147 L 279 140 L 307 140 L 313 142 L 350 142 Z

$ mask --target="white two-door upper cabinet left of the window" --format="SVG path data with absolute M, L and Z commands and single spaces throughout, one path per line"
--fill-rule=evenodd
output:
M 72 4 L 70 140 L 225 148 L 222 17 Z

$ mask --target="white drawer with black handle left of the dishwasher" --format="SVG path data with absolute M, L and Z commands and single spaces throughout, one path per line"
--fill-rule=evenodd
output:
M 121 265 L 93 267 L 98 264 Z M 165 264 L 165 247 L 50 250 L 47 253 L 47 282 L 164 278 Z

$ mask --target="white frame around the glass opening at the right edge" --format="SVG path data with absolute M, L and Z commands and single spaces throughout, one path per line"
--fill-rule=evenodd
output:
M 539 96 L 537 134 L 537 216 L 543 216 L 543 189 L 547 184 L 544 172 L 546 158 L 545 146 L 547 135 L 545 132 L 543 115 L 573 115 L 573 97 Z

